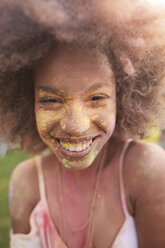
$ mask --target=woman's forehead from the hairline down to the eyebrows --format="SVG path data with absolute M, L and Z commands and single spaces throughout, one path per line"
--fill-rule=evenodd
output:
M 71 91 L 98 83 L 112 84 L 113 73 L 104 60 L 105 57 L 80 47 L 54 47 L 36 68 L 35 85 L 56 85 Z

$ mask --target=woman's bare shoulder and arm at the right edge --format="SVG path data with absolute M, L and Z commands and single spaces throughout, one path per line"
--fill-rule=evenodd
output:
M 133 143 L 124 181 L 134 206 L 139 248 L 165 247 L 165 151 L 154 144 Z

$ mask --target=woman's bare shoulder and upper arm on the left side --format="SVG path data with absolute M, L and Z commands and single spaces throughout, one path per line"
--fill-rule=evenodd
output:
M 10 215 L 14 233 L 30 231 L 29 217 L 39 200 L 38 176 L 34 159 L 14 169 L 9 190 Z

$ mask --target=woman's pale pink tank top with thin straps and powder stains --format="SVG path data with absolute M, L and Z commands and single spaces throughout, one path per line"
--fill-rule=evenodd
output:
M 130 140 L 125 142 L 119 159 L 120 195 L 125 221 L 117 233 L 111 248 L 138 248 L 137 232 L 134 218 L 129 214 L 126 206 L 123 184 L 123 159 Z M 30 216 L 31 231 L 29 234 L 13 234 L 10 232 L 11 248 L 68 248 L 61 239 L 51 219 L 46 195 L 44 177 L 42 173 L 41 157 L 36 157 L 37 171 L 39 176 L 39 188 L 41 199 Z M 71 248 L 71 247 L 70 247 Z

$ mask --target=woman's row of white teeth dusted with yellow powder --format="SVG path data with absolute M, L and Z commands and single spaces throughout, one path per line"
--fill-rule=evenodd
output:
M 88 143 L 86 144 L 78 144 L 78 145 L 73 145 L 73 144 L 69 144 L 69 143 L 63 143 L 62 141 L 60 141 L 60 145 L 66 149 L 67 151 L 70 152 L 81 152 L 84 151 L 85 149 L 87 149 L 90 145 L 92 144 L 92 140 L 90 140 Z

